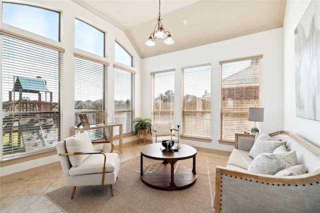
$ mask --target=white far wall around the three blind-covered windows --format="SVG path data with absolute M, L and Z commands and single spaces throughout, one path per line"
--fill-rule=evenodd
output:
M 181 140 L 181 143 L 219 150 L 232 146 L 218 144 L 220 127 L 220 60 L 263 54 L 261 59 L 261 107 L 264 121 L 261 130 L 275 132 L 283 126 L 283 57 L 282 28 L 203 45 L 173 53 L 142 59 L 143 91 L 142 116 L 151 116 L 150 72 L 175 69 L 174 123 L 180 124 L 181 67 L 211 63 L 211 143 Z M 173 44 L 174 45 L 174 44 Z M 156 48 L 156 45 L 152 48 Z

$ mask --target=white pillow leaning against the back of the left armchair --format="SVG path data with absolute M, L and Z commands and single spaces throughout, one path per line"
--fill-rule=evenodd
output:
M 90 152 L 93 146 L 89 136 L 85 133 L 71 136 L 65 139 L 65 149 L 67 153 Z M 89 155 L 68 155 L 69 161 L 73 167 L 79 166 Z

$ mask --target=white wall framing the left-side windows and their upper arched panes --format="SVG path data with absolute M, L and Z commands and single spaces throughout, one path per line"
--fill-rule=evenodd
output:
M 134 68 L 136 71 L 135 84 L 135 97 L 137 101 L 135 102 L 135 114 L 140 116 L 141 113 L 141 102 L 140 102 L 140 93 L 141 89 L 138 85 L 141 85 L 141 59 L 134 50 L 130 41 L 126 37 L 125 33 L 115 26 L 108 23 L 106 20 L 98 17 L 97 15 L 89 12 L 88 10 L 82 8 L 78 4 L 74 3 L 71 0 L 14 0 L 12 2 L 31 4 L 34 6 L 40 6 L 47 9 L 52 9 L 55 11 L 61 12 L 61 42 L 52 42 L 48 38 L 12 27 L 7 24 L 1 24 L 1 29 L 12 31 L 24 36 L 33 37 L 37 40 L 53 43 L 54 45 L 60 46 L 65 49 L 63 55 L 63 135 L 62 138 L 69 137 L 69 128 L 74 125 L 74 52 L 88 55 L 91 57 L 96 57 L 93 54 L 81 51 L 74 47 L 74 18 L 79 18 L 98 29 L 107 32 L 106 34 L 106 58 L 99 58 L 106 62 L 110 63 L 108 67 L 108 94 L 107 94 L 107 109 L 109 115 L 111 109 L 113 109 L 114 104 L 114 40 L 116 39 L 126 50 L 134 57 Z M 2 11 L 2 0 L 0 2 L 0 11 Z M 1 15 L 2 18 L 2 15 Z M 1 20 L 2 22 L 2 20 Z M 0 22 L 0 23 L 1 23 Z M 118 64 L 118 63 L 117 63 Z M 119 64 L 118 64 L 119 65 Z M 123 65 L 122 65 L 123 66 Z M 2 71 L 1 71 L 2 72 Z M 0 92 L 2 94 L 2 92 Z M 2 117 L 2 112 L 0 112 Z M 108 116 L 110 118 L 110 116 Z M 126 138 L 123 140 L 123 143 L 135 140 L 135 136 L 131 138 Z M 2 137 L 1 137 L 2 140 Z M 118 144 L 118 141 L 114 142 L 115 145 Z M 36 159 L 32 161 L 27 161 L 19 164 L 14 164 L 6 167 L 1 167 L 1 176 L 19 172 L 22 170 L 27 170 L 33 167 L 38 167 L 41 165 L 49 164 L 52 162 L 58 161 L 57 156 L 49 156 L 41 159 Z

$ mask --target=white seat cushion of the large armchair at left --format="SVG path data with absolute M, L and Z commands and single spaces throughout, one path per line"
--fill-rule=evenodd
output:
M 114 172 L 119 158 L 117 153 L 105 153 L 105 172 Z M 88 155 L 77 167 L 69 169 L 70 176 L 102 173 L 104 156 L 102 154 Z

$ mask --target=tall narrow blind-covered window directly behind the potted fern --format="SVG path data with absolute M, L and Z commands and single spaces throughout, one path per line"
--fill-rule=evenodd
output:
M 122 134 L 133 132 L 134 76 L 134 71 L 114 65 L 114 122 L 123 124 Z

